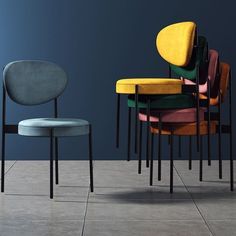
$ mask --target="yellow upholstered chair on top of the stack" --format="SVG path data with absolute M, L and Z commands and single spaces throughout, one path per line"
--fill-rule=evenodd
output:
M 157 35 L 156 46 L 161 57 L 171 65 L 185 68 L 195 56 L 198 48 L 198 37 L 194 22 L 181 22 L 169 25 L 162 29 Z M 198 75 L 199 66 L 197 66 Z M 133 95 L 135 97 L 135 151 L 138 148 L 138 111 L 139 95 L 150 97 L 153 95 L 181 95 L 183 94 L 183 81 L 172 78 L 171 73 L 168 78 L 124 78 L 116 82 L 117 93 L 117 122 L 116 122 L 116 146 L 119 147 L 119 126 L 120 126 L 120 95 Z M 196 86 L 189 86 L 196 93 L 196 109 L 198 120 L 198 148 L 199 148 L 199 78 L 196 76 Z M 189 91 L 188 91 L 189 92 Z M 148 106 L 150 113 L 150 104 Z M 129 111 L 130 113 L 130 111 Z M 150 126 L 148 119 L 147 127 Z M 130 134 L 128 134 L 129 136 Z M 128 158 L 129 159 L 129 158 Z M 148 163 L 147 163 L 148 166 Z M 139 166 L 139 173 L 141 167 Z

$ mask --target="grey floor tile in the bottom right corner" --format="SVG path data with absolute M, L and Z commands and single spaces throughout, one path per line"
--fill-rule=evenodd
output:
M 208 221 L 211 231 L 215 236 L 232 236 L 236 232 L 236 220 Z

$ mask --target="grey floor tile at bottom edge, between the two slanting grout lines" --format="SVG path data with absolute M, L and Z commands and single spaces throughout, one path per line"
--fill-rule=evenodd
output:
M 86 221 L 84 236 L 211 236 L 200 221 Z

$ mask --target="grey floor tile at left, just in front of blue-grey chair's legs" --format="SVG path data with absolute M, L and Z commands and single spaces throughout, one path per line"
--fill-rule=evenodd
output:
M 45 196 L 2 195 L 0 220 L 82 220 L 86 202 L 55 201 Z

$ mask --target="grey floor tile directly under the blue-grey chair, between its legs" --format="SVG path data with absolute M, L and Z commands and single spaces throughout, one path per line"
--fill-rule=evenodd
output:
M 6 175 L 5 194 L 48 197 L 48 164 L 47 161 L 18 161 Z M 86 201 L 89 175 L 85 173 L 85 164 L 85 161 L 60 162 L 60 184 L 54 185 L 55 199 Z

